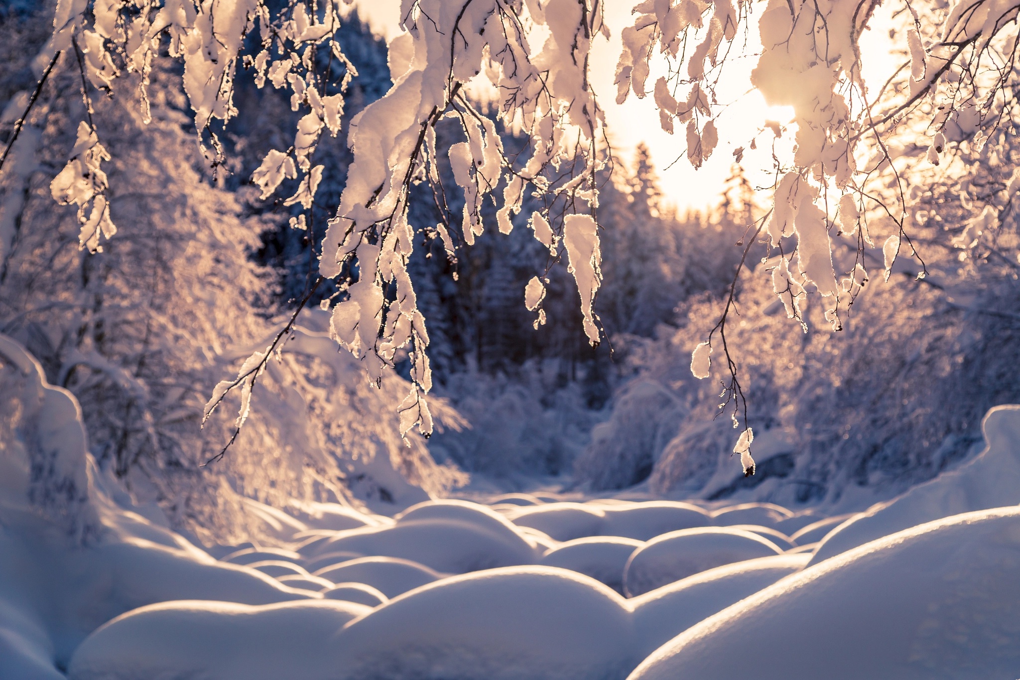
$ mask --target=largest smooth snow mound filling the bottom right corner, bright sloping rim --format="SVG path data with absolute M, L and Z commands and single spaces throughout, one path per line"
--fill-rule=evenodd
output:
M 1020 508 L 937 520 L 723 610 L 629 680 L 1014 678 L 1018 572 Z

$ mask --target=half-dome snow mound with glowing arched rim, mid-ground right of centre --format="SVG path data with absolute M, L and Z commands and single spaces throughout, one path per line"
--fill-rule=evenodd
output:
M 706 569 L 780 553 L 772 541 L 742 529 L 671 531 L 634 551 L 623 570 L 623 589 L 632 597 Z

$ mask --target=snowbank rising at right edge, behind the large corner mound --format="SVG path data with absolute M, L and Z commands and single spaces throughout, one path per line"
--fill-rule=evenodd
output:
M 829 533 L 811 564 L 942 517 L 1020 503 L 1020 406 L 997 406 L 981 423 L 985 447 L 974 459 L 870 508 Z

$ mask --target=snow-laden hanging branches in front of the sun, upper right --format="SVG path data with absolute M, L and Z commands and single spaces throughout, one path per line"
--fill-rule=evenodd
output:
M 910 220 L 916 198 L 908 196 L 911 173 L 938 165 L 948 141 L 976 133 L 980 150 L 997 125 L 1010 124 L 1007 112 L 1014 106 L 1015 3 L 898 8 L 889 35 L 904 40 L 907 63 L 884 85 L 865 82 L 869 61 L 881 56 L 861 50 L 878 4 L 773 0 L 753 18 L 747 2 L 647 0 L 634 7 L 633 24 L 623 31 L 616 71 L 617 101 L 630 93 L 651 95 L 663 129 L 673 134 L 686 125 L 687 157 L 697 167 L 717 143 L 715 121 L 724 103 L 716 95 L 731 51 L 740 52 L 747 33 L 757 29 L 762 51 L 751 85 L 769 105 L 793 109 L 795 132 L 788 153 L 773 152 L 771 209 L 750 226 L 745 242 L 761 234 L 770 251 L 778 252 L 767 271 L 788 318 L 803 321 L 808 294 L 816 294 L 825 321 L 836 330 L 868 280 L 866 251 L 880 251 L 871 268 L 883 270 L 886 279 L 903 254 L 915 259 L 919 275 L 926 273 Z M 663 64 L 665 74 L 652 85 L 651 73 Z M 905 120 L 913 121 L 913 128 L 905 127 Z M 782 134 L 778 125 L 774 133 Z M 763 143 L 755 138 L 750 147 Z M 915 145 L 927 154 L 905 159 L 903 150 Z M 737 159 L 743 152 L 744 147 L 734 151 Z M 886 234 L 876 240 L 869 220 L 885 218 L 895 228 L 883 227 Z M 839 237 L 856 248 L 856 259 L 834 261 L 843 248 Z M 706 377 L 711 346 L 725 351 L 724 404 L 732 409 L 734 425 L 744 421 L 742 441 L 750 446 L 748 383 L 738 379 L 726 339 L 733 302 L 731 297 L 724 303 L 721 318 L 708 329 L 703 339 L 708 345 L 692 348 L 691 368 Z M 743 443 L 738 449 L 750 470 L 753 461 Z

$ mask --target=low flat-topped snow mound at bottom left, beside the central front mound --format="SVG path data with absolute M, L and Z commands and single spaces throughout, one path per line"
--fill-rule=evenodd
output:
M 263 607 L 183 600 L 128 612 L 92 633 L 71 657 L 71 680 L 303 680 L 332 678 L 322 649 L 344 624 L 371 610 L 339 600 Z M 319 662 L 319 663 L 316 663 Z

